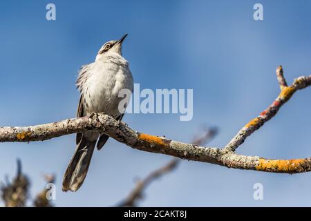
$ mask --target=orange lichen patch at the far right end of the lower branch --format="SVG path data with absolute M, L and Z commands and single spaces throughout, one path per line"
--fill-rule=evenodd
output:
M 301 171 L 301 164 L 305 164 L 305 159 L 296 160 L 265 160 L 259 159 L 256 166 L 257 171 L 274 171 L 274 172 L 295 172 Z

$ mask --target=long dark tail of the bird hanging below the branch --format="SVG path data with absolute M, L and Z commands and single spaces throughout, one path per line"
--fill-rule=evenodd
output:
M 85 137 L 82 137 L 79 144 L 77 144 L 75 154 L 71 158 L 64 175 L 63 191 L 77 191 L 83 184 L 86 173 L 88 173 L 88 166 L 90 166 L 95 144 L 96 141 L 90 142 Z

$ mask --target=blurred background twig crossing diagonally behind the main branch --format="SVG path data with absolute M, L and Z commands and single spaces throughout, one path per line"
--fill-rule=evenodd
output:
M 207 128 L 205 129 L 205 133 L 203 133 L 200 136 L 194 137 L 194 140 L 192 141 L 192 144 L 194 145 L 203 145 L 207 142 L 211 141 L 215 135 L 217 134 L 216 128 Z M 144 180 L 139 180 L 134 189 L 129 193 L 127 198 L 123 200 L 120 204 L 117 206 L 136 206 L 137 201 L 142 198 L 142 192 L 144 189 L 147 188 L 147 186 L 153 182 L 154 180 L 158 179 L 162 175 L 165 175 L 167 173 L 170 173 L 173 171 L 173 169 L 176 169 L 178 164 L 181 162 L 180 159 L 174 158 L 173 160 L 169 161 L 169 163 L 165 164 L 164 166 L 160 167 L 160 169 L 157 169 L 156 171 L 151 172 L 147 177 L 144 178 Z

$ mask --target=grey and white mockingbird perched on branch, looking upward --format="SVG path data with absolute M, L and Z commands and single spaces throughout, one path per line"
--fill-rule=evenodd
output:
M 106 42 L 98 51 L 95 61 L 80 68 L 76 83 L 81 94 L 77 117 L 105 113 L 117 120 L 122 119 L 125 107 L 119 110 L 119 102 L 124 97 L 119 97 L 119 92 L 122 89 L 133 91 L 129 63 L 122 57 L 122 42 L 126 36 L 118 41 Z M 108 138 L 96 131 L 77 133 L 77 147 L 64 175 L 63 191 L 79 189 L 88 172 L 96 142 L 100 150 Z

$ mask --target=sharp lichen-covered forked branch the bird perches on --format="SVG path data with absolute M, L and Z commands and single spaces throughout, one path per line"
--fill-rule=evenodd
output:
M 68 135 L 71 133 L 85 132 L 88 130 L 100 131 L 109 135 L 118 142 L 141 151 L 163 153 L 186 160 L 196 160 L 219 164 L 236 169 L 250 169 L 255 171 L 267 171 L 275 173 L 301 173 L 311 171 L 310 158 L 299 160 L 265 160 L 256 156 L 245 156 L 234 153 L 245 139 L 261 128 L 265 122 L 274 117 L 281 106 L 300 89 L 311 85 L 311 75 L 299 77 L 290 86 L 283 86 L 281 93 L 271 106 L 258 117 L 252 119 L 232 139 L 225 148 L 204 147 L 194 144 L 185 144 L 169 140 L 166 137 L 158 137 L 140 133 L 129 128 L 126 124 L 118 122 L 108 115 L 94 113 L 88 117 L 66 119 L 61 122 L 24 127 L 1 127 L 0 142 L 30 142 L 48 140 L 53 137 Z

